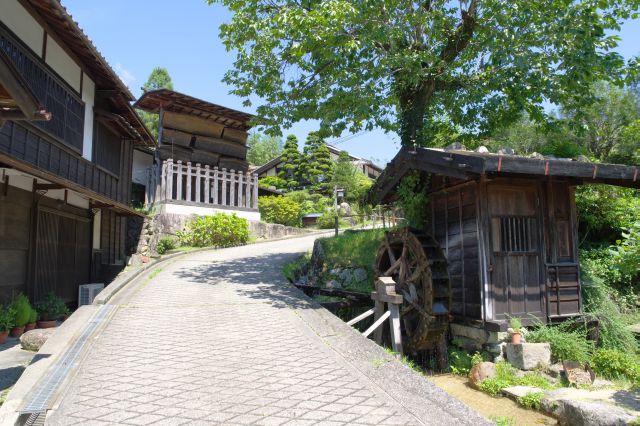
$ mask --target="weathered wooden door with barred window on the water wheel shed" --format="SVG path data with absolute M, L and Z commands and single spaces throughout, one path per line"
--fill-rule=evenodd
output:
M 489 186 L 488 198 L 494 318 L 543 318 L 537 186 Z

